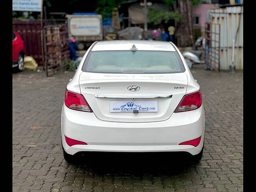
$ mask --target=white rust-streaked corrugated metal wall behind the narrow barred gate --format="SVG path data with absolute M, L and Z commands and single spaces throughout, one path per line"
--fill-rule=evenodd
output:
M 209 19 L 213 24 L 220 24 L 220 70 L 229 70 L 232 65 L 232 43 L 235 37 L 234 67 L 236 70 L 243 70 L 243 6 L 212 9 Z M 216 32 L 214 30 L 212 27 L 212 32 Z M 216 40 L 218 39 L 212 39 L 212 47 Z

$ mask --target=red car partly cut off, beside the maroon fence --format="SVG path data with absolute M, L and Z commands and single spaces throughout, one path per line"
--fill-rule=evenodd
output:
M 19 71 L 24 69 L 25 47 L 22 38 L 16 31 L 12 32 L 12 67 Z

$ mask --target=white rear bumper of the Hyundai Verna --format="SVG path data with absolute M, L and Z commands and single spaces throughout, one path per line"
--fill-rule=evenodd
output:
M 62 145 L 68 154 L 103 152 L 189 152 L 198 154 L 204 144 L 204 109 L 173 113 L 160 122 L 107 122 L 94 113 L 62 108 Z M 64 135 L 87 145 L 68 146 Z M 202 136 L 198 146 L 179 145 Z

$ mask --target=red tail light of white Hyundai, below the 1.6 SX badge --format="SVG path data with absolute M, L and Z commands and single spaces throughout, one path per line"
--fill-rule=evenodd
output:
M 185 95 L 175 112 L 191 111 L 199 108 L 202 105 L 201 91 Z

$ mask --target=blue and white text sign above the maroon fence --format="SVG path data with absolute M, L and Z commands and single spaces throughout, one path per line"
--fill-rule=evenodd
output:
M 42 11 L 42 0 L 12 0 L 13 11 Z

